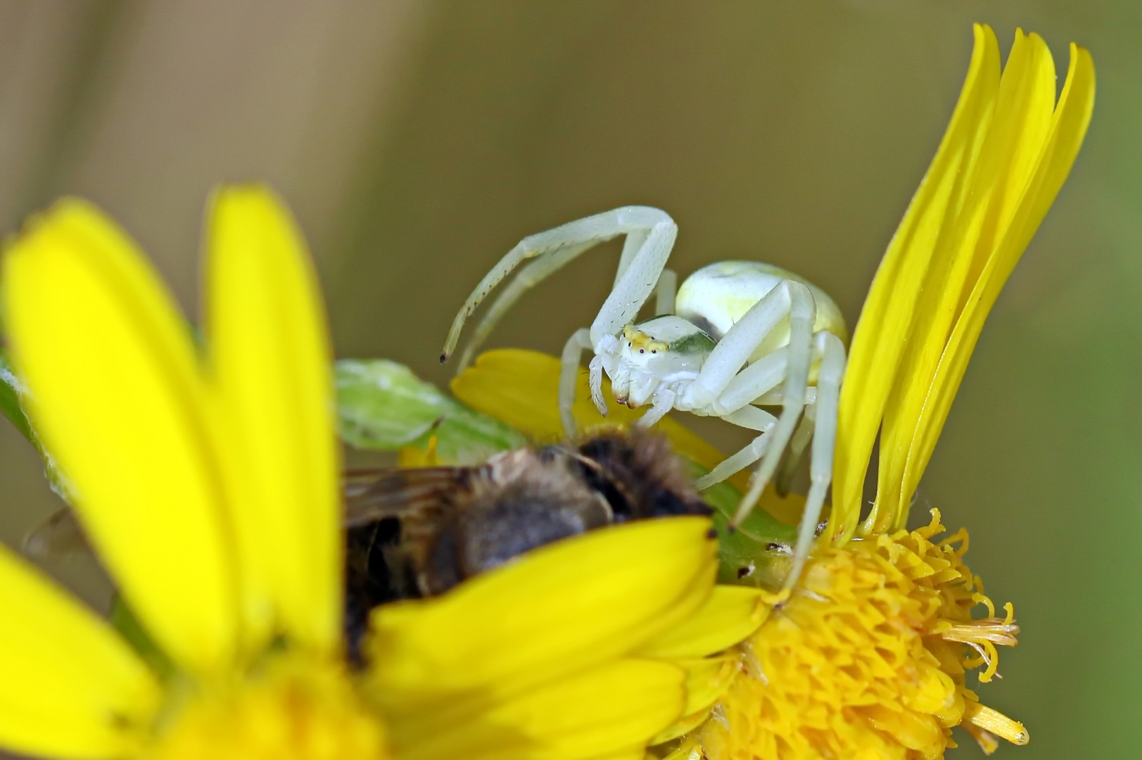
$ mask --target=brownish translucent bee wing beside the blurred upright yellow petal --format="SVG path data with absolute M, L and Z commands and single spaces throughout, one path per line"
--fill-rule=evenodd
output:
M 410 467 L 347 472 L 344 479 L 346 528 L 439 507 L 467 490 L 469 467 Z

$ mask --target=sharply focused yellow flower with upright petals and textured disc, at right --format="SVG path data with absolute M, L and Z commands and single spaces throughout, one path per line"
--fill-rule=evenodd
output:
M 983 320 L 1081 145 L 1094 103 L 1089 54 L 1071 46 L 1055 104 L 1051 54 L 975 26 L 948 131 L 877 271 L 842 390 L 834 502 L 817 554 L 788 600 L 741 647 L 745 673 L 676 758 L 940 758 L 962 726 L 986 752 L 1026 744 L 1023 726 L 979 703 L 965 671 L 1015 643 L 963 562 L 967 534 L 904 525 L 916 485 Z M 859 522 L 880 435 L 871 513 Z M 855 541 L 852 538 L 856 537 Z M 986 617 L 972 617 L 982 605 Z M 695 754 L 697 753 L 697 754 Z

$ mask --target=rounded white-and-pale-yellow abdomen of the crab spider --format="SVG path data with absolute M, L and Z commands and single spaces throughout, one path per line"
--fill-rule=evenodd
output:
M 699 326 L 714 339 L 721 339 L 750 307 L 781 280 L 801 282 L 813 294 L 817 320 L 813 331 L 836 335 L 846 345 L 849 329 L 837 304 L 827 293 L 804 278 L 761 262 L 718 262 L 703 266 L 678 287 L 674 309 L 678 317 Z M 757 347 L 750 361 L 789 342 L 789 323 L 779 325 Z

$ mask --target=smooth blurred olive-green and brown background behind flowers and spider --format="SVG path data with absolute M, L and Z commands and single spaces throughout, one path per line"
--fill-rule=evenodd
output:
M 980 341 L 914 513 L 972 531 L 1023 635 L 987 704 L 1004 758 L 1134 758 L 1142 741 L 1142 5 L 1125 0 L 376 2 L 3 0 L 0 224 L 62 193 L 107 208 L 186 309 L 219 181 L 274 183 L 305 227 L 340 357 L 444 382 L 448 325 L 520 238 L 619 205 L 668 210 L 682 274 L 750 257 L 855 323 L 951 112 L 971 23 L 1099 71 L 1070 181 Z M 1061 79 L 1060 79 L 1061 85 Z M 492 345 L 556 352 L 616 264 L 530 295 Z M 739 440 L 702 429 L 723 448 Z M 0 425 L 0 537 L 50 512 Z M 177 541 L 177 537 L 171 537 Z M 93 603 L 90 562 L 48 568 Z M 2 678 L 2 674 L 0 674 Z M 951 757 L 979 757 L 965 735 Z

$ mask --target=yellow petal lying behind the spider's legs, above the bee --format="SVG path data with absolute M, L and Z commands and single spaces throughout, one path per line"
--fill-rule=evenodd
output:
M 496 417 L 525 435 L 552 442 L 563 438 L 558 408 L 560 360 L 538 351 L 499 349 L 476 358 L 472 367 L 452 379 L 452 393 L 469 407 Z M 603 394 L 610 399 L 610 381 L 603 378 Z M 628 427 L 645 414 L 646 408 L 630 409 L 610 405 L 602 416 L 590 400 L 587 370 L 579 370 L 576 389 L 574 418 L 579 430 L 590 434 L 614 427 Z M 713 470 L 725 457 L 713 446 L 681 424 L 664 417 L 653 430 L 670 440 L 675 453 Z M 739 489 L 748 487 L 748 473 L 738 473 L 730 482 Z

